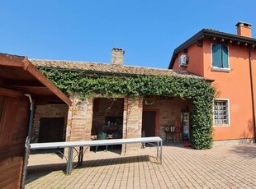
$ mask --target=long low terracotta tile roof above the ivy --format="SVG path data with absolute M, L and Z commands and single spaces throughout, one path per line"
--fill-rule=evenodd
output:
M 153 76 L 191 76 L 203 79 L 201 76 L 194 75 L 188 71 L 175 71 L 151 67 L 124 66 L 111 63 L 98 62 L 73 62 L 62 60 L 39 60 L 30 59 L 36 67 L 58 67 L 68 70 L 83 70 L 106 74 L 123 75 L 153 75 Z

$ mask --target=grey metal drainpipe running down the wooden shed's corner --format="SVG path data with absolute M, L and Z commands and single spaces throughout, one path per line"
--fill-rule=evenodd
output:
M 21 189 L 25 188 L 25 181 L 26 181 L 26 168 L 27 168 L 27 161 L 30 152 L 30 145 L 31 145 L 31 133 L 32 133 L 32 125 L 33 125 L 33 118 L 34 118 L 34 109 L 35 109 L 35 101 L 31 99 L 31 95 L 25 94 L 26 97 L 29 98 L 31 103 L 31 110 L 30 110 L 30 121 L 28 127 L 28 133 L 26 136 L 26 143 L 25 143 L 25 155 L 23 158 L 23 170 L 22 170 L 22 180 L 21 180 Z

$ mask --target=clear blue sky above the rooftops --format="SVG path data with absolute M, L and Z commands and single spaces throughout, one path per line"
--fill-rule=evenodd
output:
M 236 34 L 253 24 L 255 0 L 1 1 L 0 52 L 37 59 L 111 62 L 167 68 L 174 48 L 203 28 Z

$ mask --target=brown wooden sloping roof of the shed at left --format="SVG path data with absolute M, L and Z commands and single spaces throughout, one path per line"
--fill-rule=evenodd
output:
M 33 99 L 72 104 L 28 58 L 6 53 L 0 53 L 0 94 L 29 94 Z

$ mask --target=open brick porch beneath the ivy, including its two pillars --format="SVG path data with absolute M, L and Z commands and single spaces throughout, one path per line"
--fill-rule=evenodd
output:
M 156 96 L 147 98 L 96 96 L 80 99 L 77 95 L 73 95 L 71 99 L 73 105 L 70 107 L 64 104 L 36 107 L 33 142 L 55 142 L 58 137 L 59 141 L 88 141 L 145 136 L 159 136 L 164 144 L 175 145 L 189 141 L 191 101 L 188 99 L 178 97 L 161 99 Z M 55 124 L 44 125 L 47 120 L 48 123 L 55 121 Z M 50 137 L 47 131 L 55 135 Z M 120 154 L 126 154 L 130 150 L 140 150 L 141 147 L 143 146 L 139 144 L 115 145 L 108 150 L 114 148 L 119 150 Z M 91 150 L 100 151 L 107 148 L 99 146 L 92 147 Z

